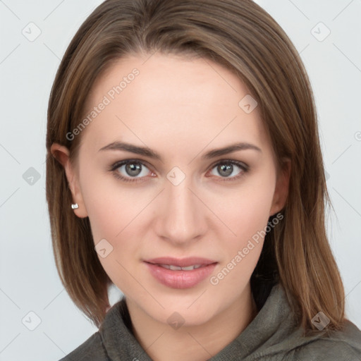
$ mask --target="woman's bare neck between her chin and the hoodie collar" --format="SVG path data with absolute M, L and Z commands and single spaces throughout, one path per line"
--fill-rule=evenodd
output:
M 154 361 L 204 361 L 231 343 L 252 322 L 257 307 L 250 284 L 241 298 L 204 324 L 172 329 L 127 299 L 133 334 Z

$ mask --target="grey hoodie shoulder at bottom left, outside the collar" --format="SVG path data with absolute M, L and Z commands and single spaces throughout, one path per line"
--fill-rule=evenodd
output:
M 90 338 L 82 343 L 78 348 L 75 348 L 71 353 L 63 357 L 59 361 L 109 361 L 109 357 L 106 356 L 102 338 L 97 331 L 92 334 Z

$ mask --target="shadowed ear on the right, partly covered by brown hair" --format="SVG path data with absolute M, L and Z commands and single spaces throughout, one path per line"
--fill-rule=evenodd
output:
M 288 187 L 290 183 L 290 159 L 283 159 L 283 167 L 279 170 L 277 175 L 276 187 L 274 190 L 274 197 L 271 204 L 271 209 L 269 210 L 269 216 L 273 216 L 283 209 L 286 204 L 288 196 Z

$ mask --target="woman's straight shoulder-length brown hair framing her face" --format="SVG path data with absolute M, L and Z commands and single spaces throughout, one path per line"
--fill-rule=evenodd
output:
M 94 83 L 114 61 L 129 54 L 200 56 L 233 71 L 257 102 L 282 168 L 291 161 L 284 220 L 267 233 L 251 286 L 257 305 L 279 281 L 297 322 L 315 330 L 322 311 L 327 329 L 342 329 L 344 289 L 326 235 L 326 189 L 317 114 L 298 51 L 276 21 L 250 0 L 107 0 L 73 37 L 51 89 L 47 118 L 47 202 L 56 267 L 75 305 L 100 326 L 109 306 L 111 280 L 94 250 L 88 218 L 75 216 L 56 142 L 76 162 L 80 123 Z M 271 217 L 270 217 L 271 220 Z

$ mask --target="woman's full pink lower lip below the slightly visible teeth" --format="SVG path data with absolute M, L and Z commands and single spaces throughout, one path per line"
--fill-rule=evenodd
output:
M 150 273 L 155 279 L 164 286 L 171 288 L 194 287 L 200 283 L 200 281 L 203 281 L 207 276 L 212 274 L 214 267 L 216 267 L 216 263 L 212 263 L 190 271 L 173 271 L 172 269 L 166 269 L 157 264 L 148 262 L 145 262 L 145 264 L 147 264 Z

